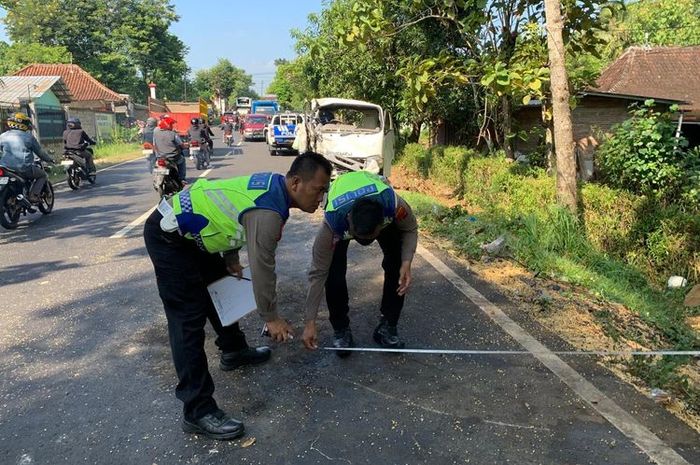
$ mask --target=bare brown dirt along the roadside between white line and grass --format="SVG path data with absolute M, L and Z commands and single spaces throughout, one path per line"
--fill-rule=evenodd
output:
M 460 204 L 452 198 L 449 189 L 410 175 L 400 167 L 392 172 L 391 183 L 397 189 L 422 192 L 449 206 Z M 468 260 L 459 256 L 449 241 L 435 237 L 425 239 L 448 251 L 481 279 L 495 284 L 520 311 L 526 312 L 579 350 L 652 350 L 662 347 L 654 328 L 623 305 L 600 299 L 582 287 L 535 276 L 507 258 Z M 691 317 L 689 324 L 700 331 L 700 316 Z M 650 396 L 650 387 L 631 376 L 625 365 L 620 363 L 620 357 L 601 359 L 599 364 L 633 385 L 640 393 Z M 681 371 L 691 383 L 700 385 L 699 363 L 687 365 Z M 663 405 L 700 433 L 700 415 L 693 413 L 684 401 L 672 397 Z

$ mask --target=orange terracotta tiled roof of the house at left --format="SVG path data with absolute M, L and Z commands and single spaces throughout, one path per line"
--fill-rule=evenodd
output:
M 61 76 L 73 96 L 73 101 L 121 102 L 124 100 L 78 65 L 32 64 L 17 71 L 15 76 Z

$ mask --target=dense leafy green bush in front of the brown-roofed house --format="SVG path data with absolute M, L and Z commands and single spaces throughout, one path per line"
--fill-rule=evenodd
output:
M 612 135 L 596 151 L 602 179 L 636 194 L 666 202 L 679 200 L 688 167 L 700 167 L 698 153 L 683 151 L 687 141 L 675 137 L 677 124 L 671 113 L 656 111 L 653 100 L 641 107 L 633 105 L 630 115 L 613 127 Z

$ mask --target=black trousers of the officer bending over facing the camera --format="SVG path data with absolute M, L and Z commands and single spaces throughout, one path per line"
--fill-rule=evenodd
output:
M 384 253 L 384 290 L 380 311 L 387 322 L 395 326 L 401 316 L 404 296 L 397 294 L 399 272 L 401 269 L 401 233 L 395 223 L 384 228 L 377 237 L 379 247 Z M 348 312 L 348 284 L 345 278 L 348 268 L 348 245 L 350 240 L 340 241 L 335 246 L 333 261 L 326 279 L 326 303 L 333 329 L 338 331 L 350 325 Z

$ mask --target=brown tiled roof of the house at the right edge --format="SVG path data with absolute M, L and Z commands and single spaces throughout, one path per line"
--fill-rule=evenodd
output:
M 700 115 L 700 46 L 630 47 L 598 78 L 596 90 L 683 100 Z

